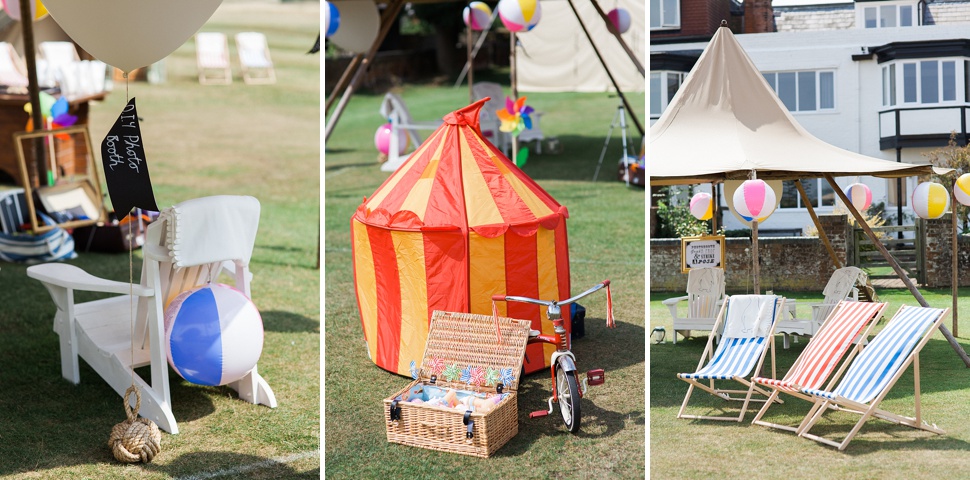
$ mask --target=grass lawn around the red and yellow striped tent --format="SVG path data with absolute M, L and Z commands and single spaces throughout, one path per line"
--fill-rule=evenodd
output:
M 467 104 L 467 87 L 408 86 L 401 92 L 417 121 L 433 120 Z M 384 123 L 380 95 L 360 94 L 344 112 L 325 154 L 325 455 L 328 478 L 636 478 L 644 475 L 644 191 L 615 178 L 619 131 L 596 168 L 616 99 L 601 94 L 528 94 L 545 112 L 542 129 L 559 138 L 558 155 L 532 154 L 524 170 L 569 208 L 573 293 L 613 280 L 617 328 L 607 330 L 605 296 L 584 300 L 586 337 L 574 344 L 581 370 L 605 368 L 607 382 L 583 399 L 582 431 L 568 433 L 544 409 L 548 373 L 526 377 L 520 388 L 519 433 L 488 460 L 423 450 L 386 441 L 382 400 L 409 379 L 367 358 L 353 289 L 350 217 L 387 178 L 378 169 L 374 131 Z M 631 95 L 644 105 L 644 97 Z M 642 108 L 642 107 L 641 107 Z M 644 118 L 643 111 L 638 112 Z M 633 128 L 631 127 L 632 131 Z M 637 139 L 638 139 L 637 135 Z M 636 145 L 636 140 L 631 140 Z M 556 414 L 558 415 L 558 414 Z

